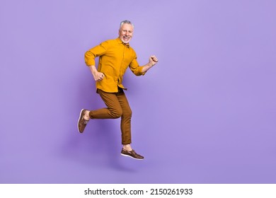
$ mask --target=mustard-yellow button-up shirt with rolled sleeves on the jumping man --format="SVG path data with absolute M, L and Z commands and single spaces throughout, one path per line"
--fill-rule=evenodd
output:
M 120 37 L 114 40 L 106 40 L 85 53 L 87 66 L 95 65 L 95 58 L 99 57 L 98 71 L 105 77 L 102 81 L 96 81 L 96 88 L 108 93 L 115 93 L 118 87 L 125 89 L 122 78 L 130 67 L 136 75 L 144 75 L 142 67 L 137 62 L 137 55 L 129 44 L 125 44 Z

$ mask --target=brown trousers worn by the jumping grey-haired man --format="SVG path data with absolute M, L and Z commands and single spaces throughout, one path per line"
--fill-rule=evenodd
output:
M 91 119 L 115 119 L 121 117 L 122 144 L 130 144 L 132 110 L 124 91 L 119 88 L 117 93 L 107 93 L 98 89 L 98 93 L 107 107 L 91 110 L 89 116 Z

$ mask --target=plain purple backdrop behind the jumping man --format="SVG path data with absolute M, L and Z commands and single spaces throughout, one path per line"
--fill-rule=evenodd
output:
M 276 183 L 276 1 L 1 0 L 1 183 Z M 135 25 L 140 64 L 124 84 L 134 149 L 103 102 L 84 52 Z

